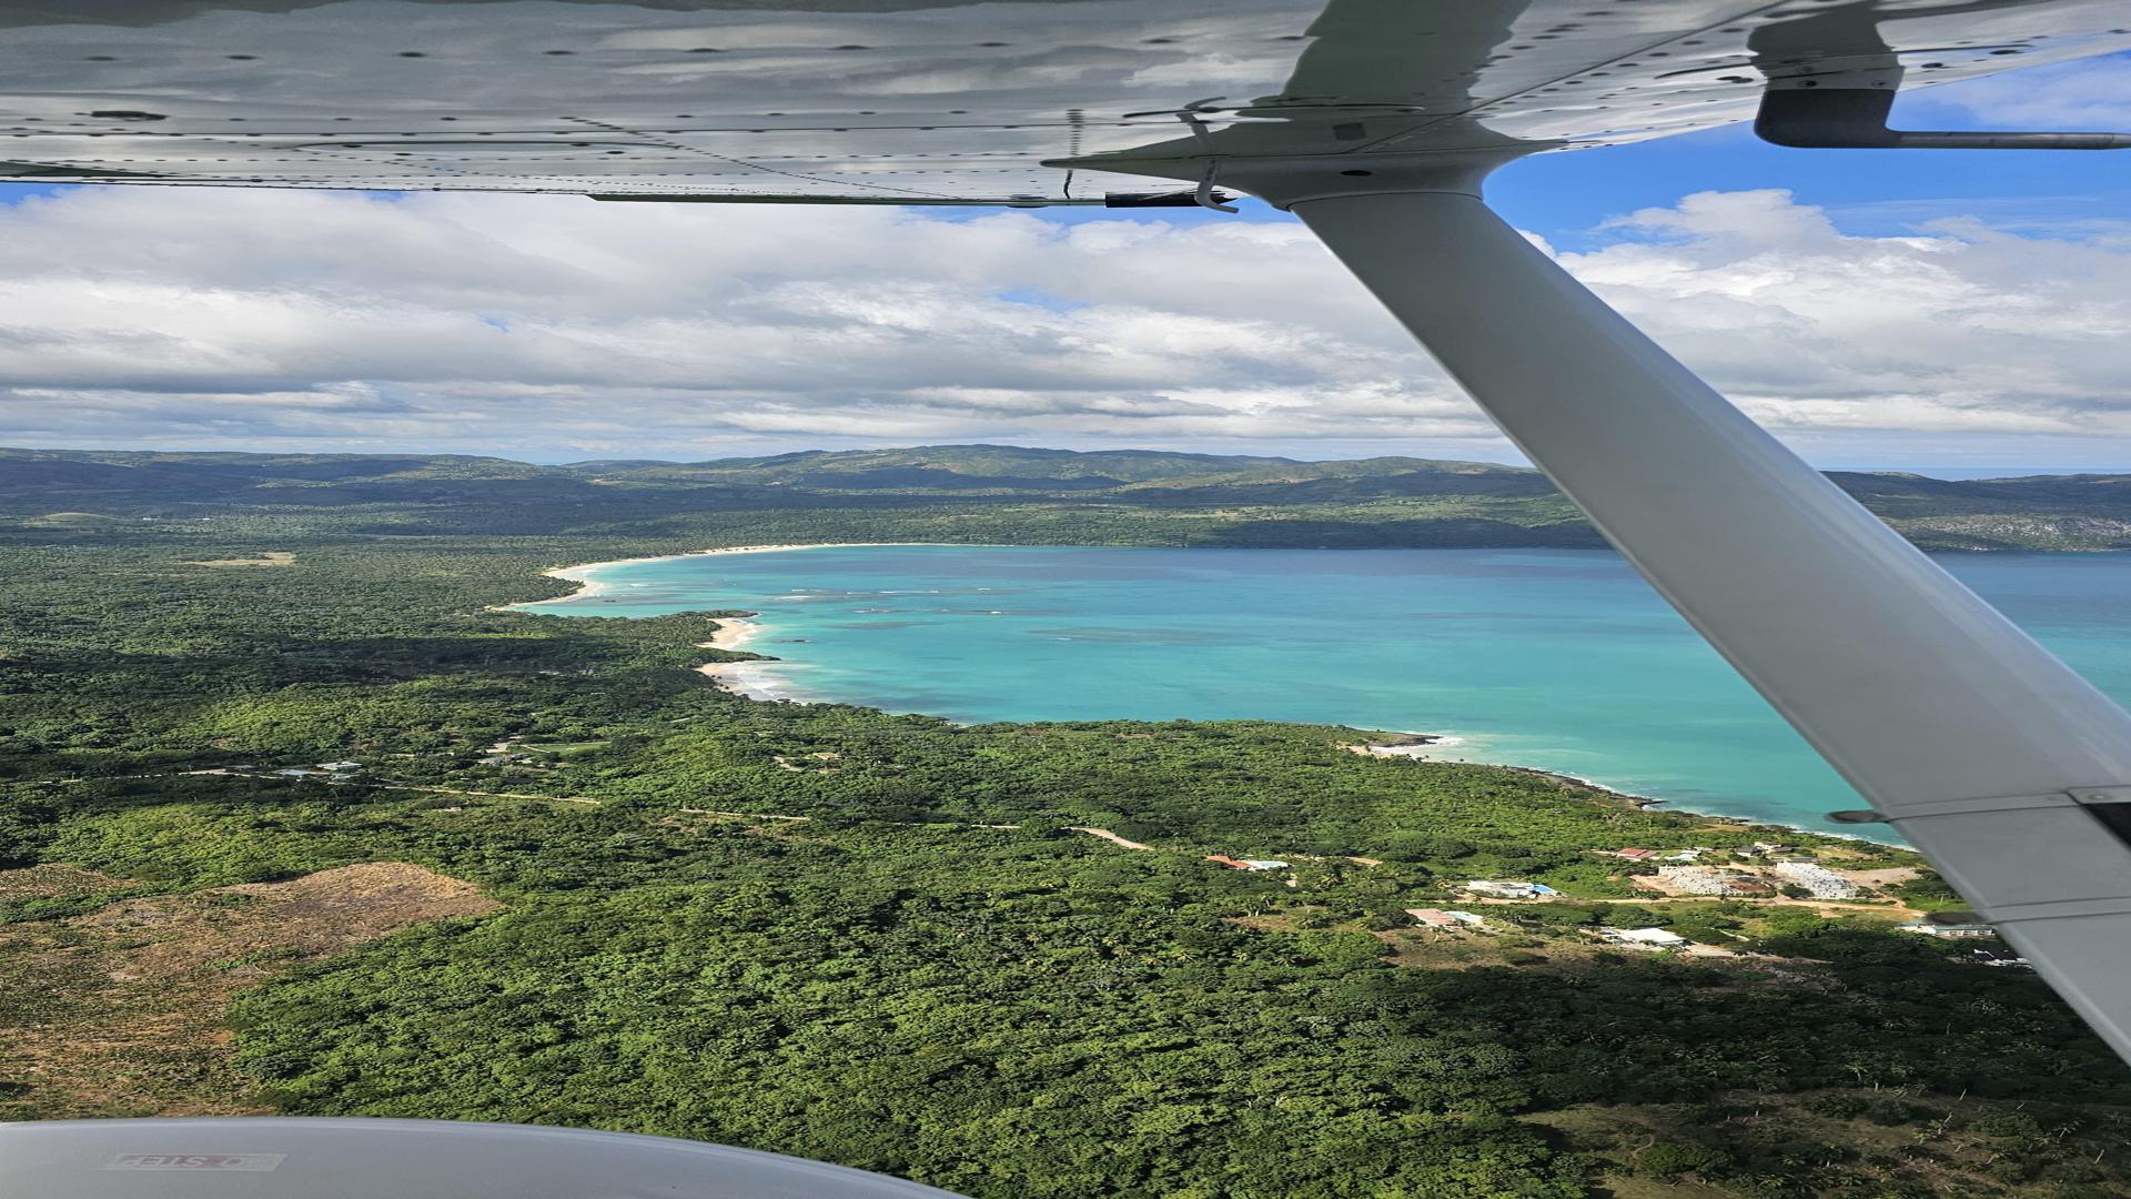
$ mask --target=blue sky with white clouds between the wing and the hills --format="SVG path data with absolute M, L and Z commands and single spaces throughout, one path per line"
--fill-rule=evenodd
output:
M 2131 130 L 2131 55 L 1905 96 Z M 1492 203 L 1826 467 L 2131 469 L 2131 154 L 1536 156 Z M 0 188 L 0 444 L 1519 461 L 1311 235 L 1155 211 Z

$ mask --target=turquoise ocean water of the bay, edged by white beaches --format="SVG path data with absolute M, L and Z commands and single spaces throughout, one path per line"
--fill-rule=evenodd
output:
M 1948 555 L 2131 700 L 2131 553 Z M 767 685 L 957 721 L 1323 721 L 1449 734 L 1686 809 L 1826 828 L 1858 806 L 1607 550 L 825 546 L 571 572 L 580 617 L 761 612 Z

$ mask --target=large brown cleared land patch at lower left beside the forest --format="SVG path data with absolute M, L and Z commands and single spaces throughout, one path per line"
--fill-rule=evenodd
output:
M 362 862 L 0 928 L 0 1120 L 258 1112 L 230 1067 L 232 994 L 411 924 L 497 907 L 435 870 Z

